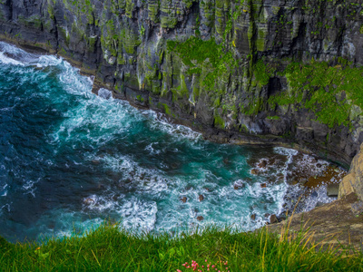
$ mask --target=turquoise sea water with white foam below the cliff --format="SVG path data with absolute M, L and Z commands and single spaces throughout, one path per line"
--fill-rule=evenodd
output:
M 104 220 L 252 230 L 301 194 L 301 210 L 331 201 L 324 184 L 310 194 L 301 184 L 344 174 L 294 150 L 204 141 L 92 85 L 61 58 L 0 43 L 1 236 L 72 235 Z

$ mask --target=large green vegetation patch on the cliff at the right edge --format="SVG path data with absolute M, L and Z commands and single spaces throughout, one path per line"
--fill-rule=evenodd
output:
M 349 127 L 350 120 L 363 109 L 363 67 L 353 67 L 339 59 L 339 64 L 326 62 L 289 63 L 283 75 L 288 91 L 269 99 L 271 106 L 296 104 L 314 112 L 317 121 Z

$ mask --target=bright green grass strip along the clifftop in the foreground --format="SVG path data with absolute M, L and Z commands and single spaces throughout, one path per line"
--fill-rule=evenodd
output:
M 363 271 L 361 253 L 349 254 L 310 244 L 309 232 L 237 233 L 205 228 L 180 238 L 137 235 L 103 225 L 83 238 L 10 244 L 0 238 L 1 271 Z M 207 260 L 207 262 L 206 262 Z M 188 262 L 188 265 L 182 266 Z M 195 266 L 195 263 L 194 263 Z M 201 267 L 204 266 L 204 267 Z

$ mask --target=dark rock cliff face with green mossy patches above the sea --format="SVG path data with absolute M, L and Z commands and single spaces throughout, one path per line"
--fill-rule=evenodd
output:
M 4 0 L 0 24 L 212 140 L 346 165 L 363 141 L 360 0 Z

